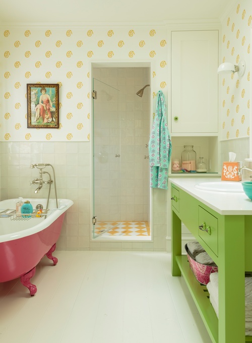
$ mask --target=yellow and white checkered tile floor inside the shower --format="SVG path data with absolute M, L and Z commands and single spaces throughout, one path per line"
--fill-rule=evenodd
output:
M 100 221 L 95 224 L 95 235 L 150 236 L 150 226 L 148 221 Z

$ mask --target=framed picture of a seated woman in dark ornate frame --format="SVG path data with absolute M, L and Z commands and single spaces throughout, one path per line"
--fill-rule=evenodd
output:
M 59 85 L 27 84 L 27 128 L 59 128 Z

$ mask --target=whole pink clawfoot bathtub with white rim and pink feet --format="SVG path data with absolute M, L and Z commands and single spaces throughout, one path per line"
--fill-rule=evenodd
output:
M 46 207 L 46 199 L 26 199 L 36 209 L 38 204 Z M 30 282 L 35 274 L 35 267 L 46 255 L 57 264 L 57 258 L 52 256 L 55 250 L 66 210 L 73 205 L 69 199 L 49 201 L 47 213 L 36 216 L 36 210 L 31 218 L 16 215 L 12 209 L 16 208 L 17 199 L 0 202 L 0 282 L 21 277 L 21 282 L 33 296 L 37 288 Z M 9 209 L 8 211 L 6 211 Z M 46 213 L 46 214 L 45 214 Z

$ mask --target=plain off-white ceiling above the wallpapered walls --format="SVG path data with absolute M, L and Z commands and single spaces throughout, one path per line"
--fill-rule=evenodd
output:
M 162 23 L 220 19 L 237 0 L 1 0 L 0 24 Z M 242 1 L 242 0 L 241 0 Z

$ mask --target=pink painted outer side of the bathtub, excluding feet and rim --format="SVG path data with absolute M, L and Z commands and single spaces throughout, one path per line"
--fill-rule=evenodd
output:
M 58 240 L 65 213 L 38 233 L 0 243 L 0 282 L 13 280 L 39 263 Z

